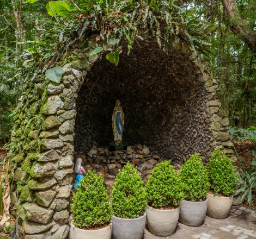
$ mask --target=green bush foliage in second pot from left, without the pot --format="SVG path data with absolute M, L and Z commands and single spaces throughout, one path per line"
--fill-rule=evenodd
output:
M 111 203 L 114 215 L 121 218 L 136 218 L 144 214 L 147 207 L 146 193 L 137 167 L 130 162 L 115 177 Z

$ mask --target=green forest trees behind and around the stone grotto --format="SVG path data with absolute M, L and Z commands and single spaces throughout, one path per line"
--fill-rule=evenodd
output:
M 63 53 L 82 32 L 87 18 L 95 17 L 120 0 L 0 0 L 0 142 L 6 143 L 12 117 L 28 80 Z M 124 1 L 123 1 L 124 2 Z M 161 0 L 147 2 L 161 8 Z M 194 16 L 190 26 L 202 29 L 200 57 L 209 62 L 220 84 L 220 99 L 230 123 L 248 128 L 256 123 L 256 1 L 170 0 Z M 115 3 L 117 4 L 117 3 Z M 62 13 L 55 9 L 62 9 Z M 94 9 L 95 8 L 95 9 Z M 114 10 L 114 9 L 112 9 Z M 102 17 L 102 16 L 101 16 Z M 98 19 L 97 19 L 98 20 Z

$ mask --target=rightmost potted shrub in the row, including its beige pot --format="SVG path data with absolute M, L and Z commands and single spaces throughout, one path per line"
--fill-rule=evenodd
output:
M 223 219 L 228 216 L 233 202 L 231 195 L 237 181 L 233 165 L 221 150 L 214 150 L 207 165 L 210 193 L 206 215 Z

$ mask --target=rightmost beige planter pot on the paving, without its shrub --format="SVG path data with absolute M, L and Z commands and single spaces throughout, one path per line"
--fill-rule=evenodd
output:
M 218 197 L 208 193 L 207 198 L 209 200 L 207 216 L 217 219 L 224 219 L 228 216 L 233 203 L 233 196 Z

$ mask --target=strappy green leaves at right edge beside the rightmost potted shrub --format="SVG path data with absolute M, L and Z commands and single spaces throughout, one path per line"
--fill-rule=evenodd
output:
M 254 161 L 256 162 L 256 161 Z M 249 206 L 252 206 L 253 193 L 256 192 L 256 170 L 255 168 L 240 169 L 238 182 L 236 183 L 238 189 L 235 195 L 242 194 L 241 203 L 247 200 Z

